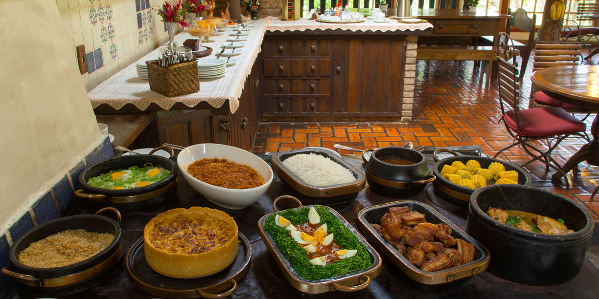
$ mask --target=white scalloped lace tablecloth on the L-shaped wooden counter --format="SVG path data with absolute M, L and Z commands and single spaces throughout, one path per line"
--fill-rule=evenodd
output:
M 298 20 L 298 21 L 281 21 L 274 17 L 267 17 L 265 19 L 254 21 L 256 27 L 249 31 L 249 38 L 246 44 L 241 48 L 242 54 L 240 56 L 232 57 L 237 59 L 237 65 L 226 68 L 225 77 L 217 80 L 202 81 L 199 83 L 199 91 L 196 93 L 184 94 L 179 97 L 165 97 L 162 94 L 156 93 L 150 90 L 150 85 L 147 79 L 143 79 L 137 76 L 135 63 L 122 69 L 117 74 L 108 78 L 98 87 L 89 92 L 89 98 L 92 103 L 92 107 L 96 108 L 99 105 L 107 104 L 114 109 L 120 109 L 128 103 L 135 105 L 140 110 L 145 110 L 150 106 L 151 103 L 156 103 L 160 108 L 168 110 L 175 103 L 183 103 L 184 105 L 192 108 L 198 105 L 198 103 L 205 101 L 215 108 L 225 103 L 225 100 L 229 100 L 229 110 L 231 113 L 237 111 L 239 107 L 239 98 L 247 78 L 247 75 L 252 72 L 252 67 L 260 52 L 260 45 L 262 39 L 264 39 L 264 33 L 266 30 L 307 30 L 307 29 L 349 29 L 352 31 L 366 31 L 366 30 L 423 30 L 432 27 L 428 23 L 422 24 L 401 24 L 391 20 L 389 23 L 374 23 L 370 20 L 364 23 L 357 24 L 326 24 L 317 23 L 310 20 Z M 361 25 L 360 25 L 361 24 Z M 229 33 L 234 29 L 226 29 L 226 32 L 222 32 L 220 36 L 211 36 L 210 39 L 216 42 L 204 43 L 208 47 L 213 48 L 213 54 L 207 58 L 216 58 L 215 55 L 219 53 L 220 45 L 229 38 Z M 189 35 L 187 31 L 181 32 L 175 36 L 175 40 L 183 44 L 188 38 L 194 38 Z M 146 60 L 155 59 L 158 57 L 159 48 L 150 52 L 146 56 L 142 57 L 140 62 Z M 226 57 L 221 57 L 226 59 Z

